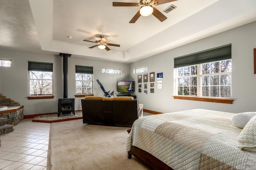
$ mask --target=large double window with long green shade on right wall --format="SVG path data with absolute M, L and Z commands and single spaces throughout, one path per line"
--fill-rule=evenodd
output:
M 231 98 L 230 44 L 183 57 L 174 59 L 174 67 L 176 66 L 175 95 Z M 191 63 L 195 64 L 187 65 Z M 182 67 L 177 67 L 177 65 Z

